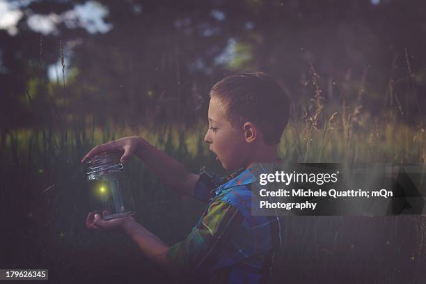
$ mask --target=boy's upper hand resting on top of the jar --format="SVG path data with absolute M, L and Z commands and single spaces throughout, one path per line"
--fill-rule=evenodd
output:
M 141 141 L 143 141 L 143 139 L 139 136 L 129 136 L 97 145 L 95 148 L 90 150 L 86 156 L 83 157 L 83 159 L 81 159 L 81 163 L 84 163 L 88 158 L 98 155 L 102 152 L 109 152 L 113 150 L 123 151 L 120 162 L 125 163 L 129 157 L 132 157 Z

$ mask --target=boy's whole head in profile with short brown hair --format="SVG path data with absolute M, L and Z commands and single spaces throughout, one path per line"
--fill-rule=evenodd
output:
M 289 99 L 268 74 L 248 72 L 222 79 L 210 90 L 205 141 L 224 168 L 247 166 L 275 148 L 289 118 Z

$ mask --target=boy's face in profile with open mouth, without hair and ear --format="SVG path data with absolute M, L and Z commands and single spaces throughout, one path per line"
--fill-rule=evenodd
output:
M 231 126 L 223 104 L 214 95 L 210 100 L 208 118 L 209 129 L 204 141 L 210 144 L 210 150 L 223 168 L 236 170 L 247 166 L 248 143 L 244 131 Z

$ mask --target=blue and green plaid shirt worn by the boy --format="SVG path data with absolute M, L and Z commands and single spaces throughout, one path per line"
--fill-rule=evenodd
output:
M 251 215 L 251 185 L 261 172 L 255 164 L 228 180 L 200 174 L 194 197 L 209 204 L 187 238 L 168 250 L 171 269 L 204 283 L 260 283 L 270 276 L 281 234 L 278 216 Z

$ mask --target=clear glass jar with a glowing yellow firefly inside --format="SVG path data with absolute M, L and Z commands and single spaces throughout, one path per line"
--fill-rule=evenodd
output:
M 90 209 L 104 220 L 134 212 L 132 192 L 120 163 L 121 155 L 122 152 L 103 152 L 86 163 Z

